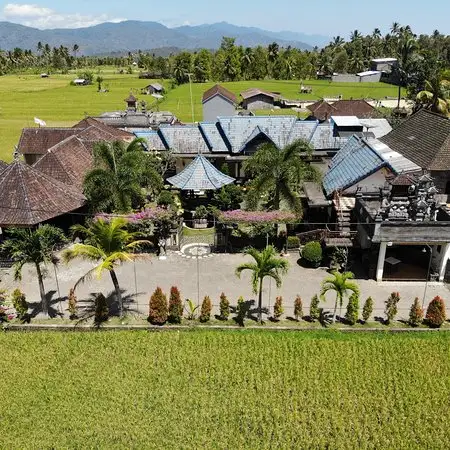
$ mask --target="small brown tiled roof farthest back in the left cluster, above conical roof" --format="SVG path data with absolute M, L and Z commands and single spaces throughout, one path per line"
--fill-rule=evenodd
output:
M 18 150 L 22 155 L 43 155 L 50 147 L 80 131 L 79 128 L 24 128 Z

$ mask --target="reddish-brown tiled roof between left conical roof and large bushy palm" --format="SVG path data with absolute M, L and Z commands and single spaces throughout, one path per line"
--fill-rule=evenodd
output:
M 91 145 L 71 136 L 49 149 L 33 167 L 82 192 L 84 176 L 92 168 L 92 162 Z

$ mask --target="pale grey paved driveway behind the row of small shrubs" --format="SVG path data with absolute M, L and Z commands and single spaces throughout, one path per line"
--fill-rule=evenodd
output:
M 266 280 L 264 283 L 264 306 L 272 310 L 273 303 L 277 295 L 283 296 L 286 315 L 292 315 L 294 299 L 299 294 L 304 303 L 304 307 L 309 306 L 311 297 L 318 294 L 322 280 L 328 275 L 325 269 L 305 269 L 297 264 L 295 255 L 287 257 L 290 261 L 289 273 L 283 278 L 283 285 L 277 289 L 273 281 Z M 148 313 L 148 301 L 151 293 L 157 286 L 160 286 L 166 293 L 169 293 L 171 286 L 177 286 L 183 298 L 190 298 L 197 302 L 198 288 L 200 291 L 200 302 L 205 295 L 209 295 L 215 305 L 215 312 L 218 311 L 219 296 L 225 292 L 230 303 L 235 305 L 239 296 L 246 300 L 255 299 L 250 285 L 250 275 L 243 273 L 242 278 L 235 276 L 235 268 L 247 257 L 242 254 L 214 254 L 209 258 L 199 259 L 198 266 L 196 259 L 186 259 L 176 253 L 168 255 L 164 261 L 152 257 L 149 260 L 127 263 L 117 270 L 119 283 L 124 290 L 124 295 L 130 301 L 129 308 L 136 310 L 140 314 Z M 250 260 L 250 259 L 248 259 Z M 61 297 L 66 297 L 73 284 L 91 267 L 91 264 L 84 261 L 74 261 L 70 265 L 61 265 L 57 269 L 57 279 Z M 198 274 L 197 277 L 197 267 Z M 53 267 L 47 270 L 44 280 L 46 290 L 54 302 L 53 307 L 60 308 L 57 283 Z M 371 296 L 375 301 L 375 315 L 383 315 L 384 301 L 392 291 L 399 291 L 401 301 L 399 303 L 399 318 L 408 316 L 409 307 L 417 296 L 422 299 L 425 283 L 398 283 L 384 282 L 376 283 L 373 280 L 358 280 L 361 288 L 362 302 Z M 35 271 L 32 266 L 26 266 L 23 271 L 23 279 L 16 282 L 12 278 L 12 271 L 4 271 L 2 276 L 2 288 L 11 291 L 15 287 L 22 289 L 29 302 L 39 302 L 39 290 Z M 92 299 L 92 293 L 102 292 L 105 295 L 113 291 L 112 282 L 107 273 L 100 280 L 93 279 L 80 285 L 77 289 L 77 297 L 80 300 Z M 449 289 L 446 285 L 429 283 L 427 287 L 427 301 L 434 296 L 442 296 L 450 306 Z M 324 306 L 332 308 L 334 297 L 330 293 L 329 299 Z M 67 314 L 66 304 L 62 303 L 62 309 Z M 450 308 L 448 308 L 450 312 Z M 306 311 L 305 311 L 306 313 Z

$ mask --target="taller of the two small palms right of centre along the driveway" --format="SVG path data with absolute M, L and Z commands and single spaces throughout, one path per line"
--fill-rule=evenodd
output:
M 272 245 L 263 251 L 258 251 L 253 247 L 244 250 L 245 255 L 249 255 L 254 262 L 241 264 L 236 269 L 236 275 L 240 278 L 244 270 L 252 272 L 252 289 L 258 294 L 258 320 L 262 323 L 262 287 L 265 277 L 275 280 L 277 287 L 281 286 L 281 276 L 285 275 L 289 268 L 289 263 L 283 258 L 277 257 L 277 252 Z

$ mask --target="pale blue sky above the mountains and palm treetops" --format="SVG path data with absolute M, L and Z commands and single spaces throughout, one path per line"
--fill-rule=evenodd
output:
M 348 36 L 351 30 L 384 33 L 392 22 L 420 33 L 450 34 L 450 0 L 35 0 L 0 1 L 0 20 L 37 28 L 90 26 L 125 19 L 167 26 L 226 21 L 273 31 Z

